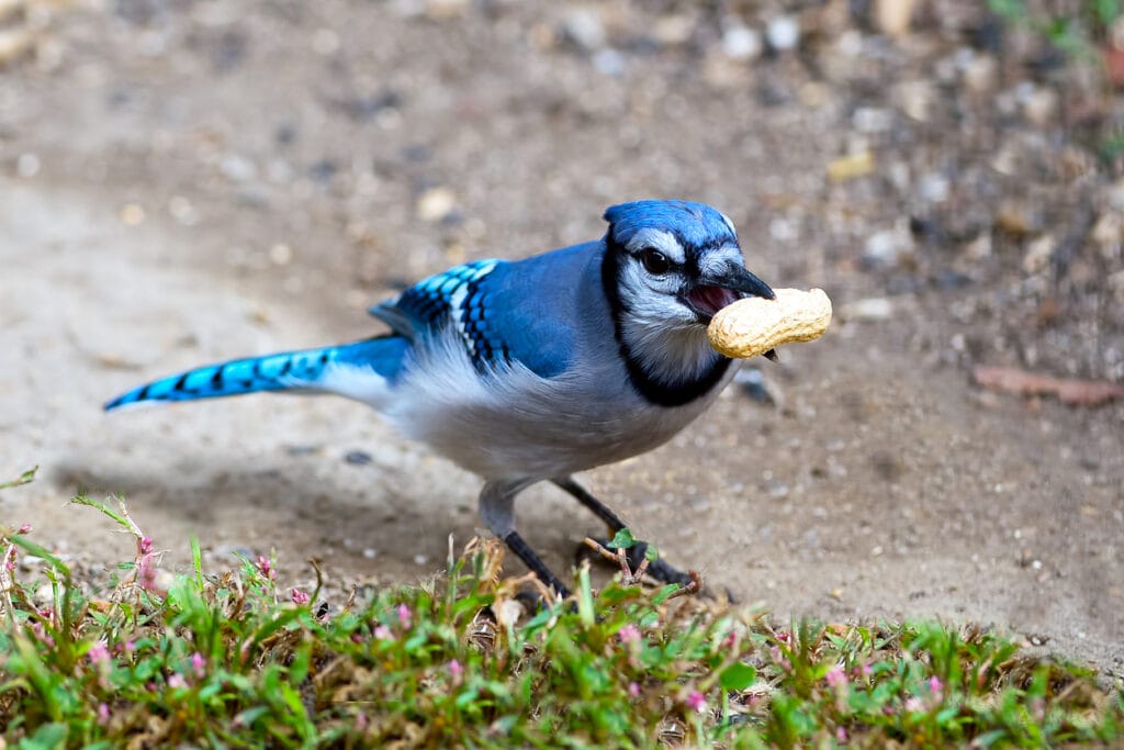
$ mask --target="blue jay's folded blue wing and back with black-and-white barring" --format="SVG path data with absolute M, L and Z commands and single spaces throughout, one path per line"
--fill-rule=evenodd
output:
M 370 311 L 415 342 L 451 326 L 481 373 L 517 361 L 552 378 L 571 363 L 578 291 L 598 249 L 589 243 L 518 262 L 473 261 Z

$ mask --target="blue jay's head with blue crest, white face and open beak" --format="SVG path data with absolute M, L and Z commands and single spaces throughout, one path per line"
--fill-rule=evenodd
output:
M 624 315 L 671 328 L 705 327 L 742 297 L 773 298 L 746 270 L 729 218 L 709 206 L 642 200 L 605 211 L 606 286 Z

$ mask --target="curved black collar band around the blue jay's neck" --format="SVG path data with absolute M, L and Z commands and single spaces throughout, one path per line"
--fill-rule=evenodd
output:
M 713 365 L 707 368 L 701 374 L 687 380 L 667 382 L 658 380 L 651 372 L 644 369 L 640 359 L 628 346 L 624 337 L 624 316 L 628 311 L 620 299 L 618 288 L 618 277 L 620 257 L 624 251 L 613 241 L 613 233 L 605 238 L 605 257 L 601 261 L 601 286 L 605 289 L 605 297 L 609 300 L 609 313 L 613 316 L 613 335 L 620 347 L 620 356 L 625 361 L 628 370 L 628 379 L 636 391 L 652 404 L 658 406 L 685 406 L 697 398 L 700 398 L 717 386 L 726 370 L 729 369 L 729 358 L 716 355 Z

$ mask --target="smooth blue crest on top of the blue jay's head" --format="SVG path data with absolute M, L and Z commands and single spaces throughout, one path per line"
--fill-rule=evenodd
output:
M 637 200 L 605 211 L 613 240 L 625 245 L 641 229 L 663 229 L 694 247 L 737 243 L 733 227 L 720 211 L 686 200 Z

